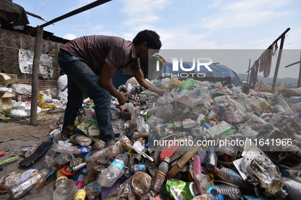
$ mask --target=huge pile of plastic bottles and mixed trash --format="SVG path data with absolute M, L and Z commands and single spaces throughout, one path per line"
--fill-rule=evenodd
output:
M 39 144 L 14 152 L 21 166 L 42 161 L 0 178 L 6 199 L 299 199 L 301 90 L 151 83 L 171 92 L 128 82 L 119 87 L 128 103 L 112 97 L 115 140 L 99 140 L 88 98 L 74 125 L 61 130 L 61 116 Z M 51 176 L 56 190 L 43 193 Z

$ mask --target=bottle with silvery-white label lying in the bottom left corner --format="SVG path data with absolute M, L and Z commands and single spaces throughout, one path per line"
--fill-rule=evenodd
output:
M 42 179 L 41 174 L 36 173 L 35 175 L 31 176 L 27 180 L 23 181 L 22 183 L 14 187 L 11 187 L 8 192 L 13 199 L 18 199 L 21 196 L 28 193 L 32 188 L 34 188 L 41 179 Z

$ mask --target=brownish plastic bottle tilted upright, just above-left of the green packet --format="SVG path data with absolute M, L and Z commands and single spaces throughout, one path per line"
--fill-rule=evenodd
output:
M 168 164 L 170 162 L 169 157 L 165 157 L 164 160 L 159 164 L 156 176 L 154 177 L 152 183 L 152 189 L 155 192 L 159 192 L 162 188 L 163 182 L 165 180 L 166 174 L 168 172 Z

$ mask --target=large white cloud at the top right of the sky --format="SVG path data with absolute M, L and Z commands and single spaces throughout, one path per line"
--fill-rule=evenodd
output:
M 276 11 L 286 4 L 287 1 L 282 0 L 244 0 L 224 4 L 222 1 L 217 1 L 208 8 L 214 7 L 219 10 L 216 10 L 216 14 L 212 16 L 202 18 L 200 27 L 217 30 L 264 24 L 288 15 L 289 12 Z

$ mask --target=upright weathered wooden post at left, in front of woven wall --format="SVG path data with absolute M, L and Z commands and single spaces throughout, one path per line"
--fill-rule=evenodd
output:
M 39 65 L 40 57 L 42 53 L 42 39 L 43 39 L 43 28 L 37 26 L 37 37 L 35 44 L 35 54 L 33 63 L 32 73 L 32 106 L 31 106 L 31 125 L 37 124 L 37 106 L 38 106 L 38 78 L 39 78 Z

